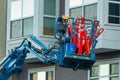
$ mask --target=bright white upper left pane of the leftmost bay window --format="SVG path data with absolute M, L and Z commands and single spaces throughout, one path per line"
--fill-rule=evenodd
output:
M 11 20 L 21 18 L 21 0 L 12 0 L 11 2 Z

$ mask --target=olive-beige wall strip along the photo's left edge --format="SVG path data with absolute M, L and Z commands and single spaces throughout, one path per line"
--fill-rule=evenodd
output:
M 6 52 L 7 0 L 0 0 L 0 60 Z

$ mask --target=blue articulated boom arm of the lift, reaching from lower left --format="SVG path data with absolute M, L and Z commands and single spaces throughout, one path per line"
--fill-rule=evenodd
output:
M 40 49 L 44 49 L 40 51 Z M 11 54 L 0 63 L 0 80 L 7 80 L 11 75 L 21 72 L 28 53 L 33 54 L 43 63 L 57 62 L 57 51 L 52 51 L 36 37 L 25 38 L 19 47 L 11 51 Z M 49 52 L 49 54 L 45 54 Z M 53 58 L 56 57 L 56 58 Z

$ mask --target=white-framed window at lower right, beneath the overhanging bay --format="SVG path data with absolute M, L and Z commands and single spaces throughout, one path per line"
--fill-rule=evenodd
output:
M 119 63 L 93 66 L 90 71 L 90 80 L 119 80 Z

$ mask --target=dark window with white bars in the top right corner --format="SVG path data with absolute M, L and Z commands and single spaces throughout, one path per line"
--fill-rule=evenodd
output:
M 120 0 L 109 0 L 108 23 L 120 24 Z

